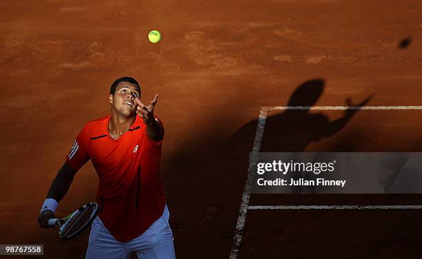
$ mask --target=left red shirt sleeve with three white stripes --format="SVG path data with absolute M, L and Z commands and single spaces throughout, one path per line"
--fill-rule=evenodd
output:
M 66 156 L 66 163 L 73 169 L 79 170 L 83 165 L 90 160 L 88 156 L 88 141 L 90 136 L 88 134 L 88 124 L 83 127 L 82 131 L 78 134 L 74 140 L 72 147 L 70 148 L 69 154 Z

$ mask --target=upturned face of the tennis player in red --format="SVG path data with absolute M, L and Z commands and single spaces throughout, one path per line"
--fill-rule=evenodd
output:
M 116 110 L 122 116 L 134 116 L 137 111 L 137 103 L 134 101 L 134 96 L 139 96 L 139 87 L 128 82 L 120 82 L 116 87 L 114 95 L 110 94 L 110 103 L 112 109 Z

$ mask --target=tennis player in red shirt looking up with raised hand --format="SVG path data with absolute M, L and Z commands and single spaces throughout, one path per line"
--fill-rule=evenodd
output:
M 159 179 L 164 127 L 131 77 L 112 83 L 111 114 L 83 127 L 48 191 L 38 218 L 48 219 L 77 171 L 90 159 L 99 176 L 100 211 L 92 222 L 86 258 L 175 258 L 165 191 Z

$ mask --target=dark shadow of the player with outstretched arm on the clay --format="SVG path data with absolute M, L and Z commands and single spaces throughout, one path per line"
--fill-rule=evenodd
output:
M 323 94 L 324 85 L 323 79 L 305 81 L 294 90 L 288 106 L 312 107 Z M 359 107 L 366 105 L 370 99 L 372 96 L 356 105 L 347 99 L 345 104 L 349 108 L 341 118 L 334 121 L 330 121 L 323 112 L 310 113 L 309 109 L 283 110 L 279 114 L 268 116 L 259 152 L 303 152 L 311 143 L 333 136 L 343 129 L 356 112 L 359 112 Z M 353 109 L 350 108 L 352 106 Z M 246 123 L 223 143 L 227 160 L 225 165 L 231 165 L 232 169 L 236 167 L 236 171 L 241 168 L 243 173 L 248 172 L 249 152 L 254 145 L 257 124 L 258 119 Z M 299 191 L 298 188 L 292 190 L 294 193 Z

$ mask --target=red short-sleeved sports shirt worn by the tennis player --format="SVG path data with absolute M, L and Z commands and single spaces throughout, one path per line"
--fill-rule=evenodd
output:
M 119 139 L 108 133 L 111 115 L 89 121 L 74 141 L 66 163 L 80 169 L 91 159 L 99 176 L 99 218 L 120 242 L 143 234 L 162 214 L 165 191 L 159 178 L 161 141 L 147 136 L 137 116 Z M 163 127 L 161 120 L 156 120 Z

